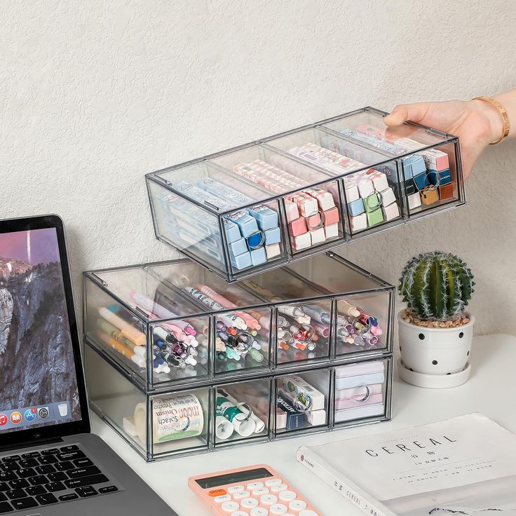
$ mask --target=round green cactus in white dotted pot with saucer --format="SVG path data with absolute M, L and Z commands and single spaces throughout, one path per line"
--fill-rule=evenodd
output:
M 451 387 L 470 374 L 475 318 L 466 313 L 473 273 L 453 254 L 427 252 L 403 269 L 398 314 L 402 379 L 422 387 Z

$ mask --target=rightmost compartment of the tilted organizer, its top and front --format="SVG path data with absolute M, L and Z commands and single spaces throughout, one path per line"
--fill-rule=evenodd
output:
M 409 218 L 463 203 L 458 138 L 413 123 L 388 128 L 384 115 L 369 108 L 324 127 L 350 142 L 398 157 Z

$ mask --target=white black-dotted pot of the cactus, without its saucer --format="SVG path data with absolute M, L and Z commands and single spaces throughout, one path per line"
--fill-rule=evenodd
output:
M 403 365 L 421 374 L 448 375 L 462 372 L 470 357 L 475 318 L 455 328 L 424 328 L 405 322 L 398 313 Z

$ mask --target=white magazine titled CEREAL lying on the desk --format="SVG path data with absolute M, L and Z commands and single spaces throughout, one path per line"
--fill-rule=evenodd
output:
M 482 414 L 300 447 L 369 516 L 516 516 L 516 435 Z

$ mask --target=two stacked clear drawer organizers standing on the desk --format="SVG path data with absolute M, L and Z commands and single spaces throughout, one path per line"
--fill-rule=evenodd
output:
M 85 293 L 90 404 L 149 461 L 390 416 L 395 289 L 333 252 L 231 284 L 188 259 L 92 271 Z

